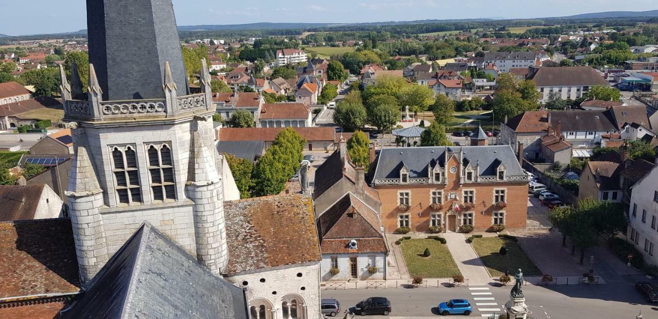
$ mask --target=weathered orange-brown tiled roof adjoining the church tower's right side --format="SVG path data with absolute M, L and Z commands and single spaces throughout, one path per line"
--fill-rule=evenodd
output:
M 320 261 L 313 201 L 299 194 L 224 202 L 228 275 Z

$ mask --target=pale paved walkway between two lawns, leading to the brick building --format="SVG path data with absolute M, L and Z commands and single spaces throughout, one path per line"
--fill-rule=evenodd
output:
M 461 274 L 468 279 L 469 286 L 487 285 L 492 281 L 480 257 L 475 253 L 473 247 L 466 242 L 464 234 L 446 232 L 442 236 L 445 238 L 446 245 L 453 255 Z

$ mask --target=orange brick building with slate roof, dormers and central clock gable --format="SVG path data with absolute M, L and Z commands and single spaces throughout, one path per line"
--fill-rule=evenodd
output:
M 507 145 L 384 148 L 371 184 L 386 232 L 526 227 L 528 177 Z

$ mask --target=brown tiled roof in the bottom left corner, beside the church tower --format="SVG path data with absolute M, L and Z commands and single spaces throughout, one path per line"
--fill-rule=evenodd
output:
M 0 242 L 0 318 L 59 318 L 80 293 L 70 219 L 3 221 Z

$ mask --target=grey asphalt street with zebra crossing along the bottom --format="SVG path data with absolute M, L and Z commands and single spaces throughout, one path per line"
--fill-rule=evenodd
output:
M 434 283 L 436 286 L 436 283 Z M 474 287 L 470 287 L 474 288 Z M 486 288 L 486 287 L 482 287 Z M 475 305 L 471 317 L 491 314 L 490 310 L 501 308 L 509 299 L 511 286 L 488 287 L 471 290 L 468 287 L 418 287 L 388 289 L 322 290 L 322 298 L 335 298 L 343 309 L 356 305 L 367 297 L 387 297 L 393 312 L 390 316 L 438 316 L 438 303 L 449 299 L 467 299 Z M 491 293 L 472 295 L 472 293 Z M 524 286 L 526 305 L 536 319 L 632 319 L 640 311 L 644 318 L 658 318 L 658 305 L 649 305 L 635 291 L 633 284 L 602 284 L 574 286 Z M 493 298 L 480 299 L 474 298 Z M 476 305 L 480 303 L 482 305 Z

